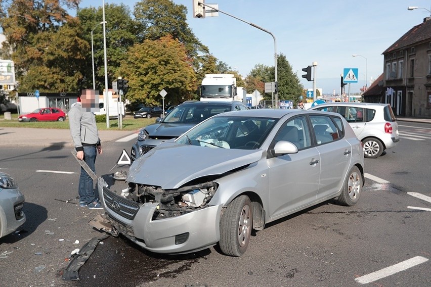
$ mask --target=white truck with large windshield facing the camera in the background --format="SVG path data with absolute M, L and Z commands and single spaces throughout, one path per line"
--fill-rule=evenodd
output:
M 245 102 L 245 89 L 236 86 L 233 74 L 205 74 L 198 88 L 201 101 Z

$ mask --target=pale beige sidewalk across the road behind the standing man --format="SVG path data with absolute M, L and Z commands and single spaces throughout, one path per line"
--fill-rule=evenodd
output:
M 104 142 L 114 141 L 134 133 L 135 131 L 131 130 L 99 130 L 99 137 L 103 146 Z M 69 129 L 0 127 L 0 147 L 7 146 L 73 148 L 73 143 Z

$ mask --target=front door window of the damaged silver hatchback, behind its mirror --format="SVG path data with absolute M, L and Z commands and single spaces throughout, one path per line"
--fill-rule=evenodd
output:
M 297 117 L 284 123 L 274 139 L 275 142 L 280 140 L 292 142 L 298 150 L 310 147 L 310 131 L 306 117 Z

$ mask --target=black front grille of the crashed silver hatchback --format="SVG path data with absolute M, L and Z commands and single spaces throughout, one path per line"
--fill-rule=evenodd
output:
M 107 187 L 103 187 L 103 199 L 110 210 L 128 220 L 133 220 L 140 208 L 139 203 L 120 197 Z

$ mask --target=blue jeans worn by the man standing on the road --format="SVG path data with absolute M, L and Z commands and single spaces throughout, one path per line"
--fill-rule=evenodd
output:
M 96 156 L 97 156 L 97 148 L 96 147 L 83 147 L 84 148 L 84 161 L 87 165 L 96 173 Z M 88 175 L 87 171 L 85 171 L 81 167 L 81 175 L 79 176 L 79 202 L 92 203 L 99 200 L 99 194 L 94 190 L 93 179 L 90 175 Z

